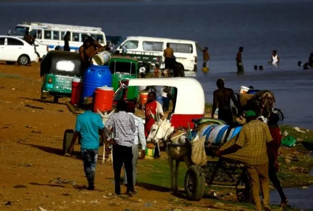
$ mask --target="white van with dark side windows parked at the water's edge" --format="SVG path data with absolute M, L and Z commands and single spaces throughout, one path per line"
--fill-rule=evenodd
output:
M 116 50 L 122 53 L 122 46 L 125 46 L 127 48 L 126 54 L 136 58 L 139 63 L 149 63 L 149 66 L 159 63 L 160 69 L 164 69 L 165 59 L 163 57 L 163 50 L 166 48 L 167 43 L 173 48 L 176 61 L 181 63 L 185 70 L 197 70 L 197 47 L 196 42 L 191 40 L 137 36 L 127 37 Z M 160 56 L 162 57 L 162 61 L 157 61 L 157 57 Z

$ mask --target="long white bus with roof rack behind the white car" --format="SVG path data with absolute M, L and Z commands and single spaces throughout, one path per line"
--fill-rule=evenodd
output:
M 23 38 L 25 31 L 30 35 L 36 36 L 36 40 L 43 45 L 48 46 L 49 50 L 55 47 L 64 47 L 63 37 L 67 31 L 70 32 L 69 47 L 70 51 L 78 51 L 83 44 L 83 36 L 88 34 L 100 45 L 106 45 L 106 36 L 99 27 L 65 25 L 53 23 L 22 22 L 16 25 L 13 30 L 9 30 L 8 35 Z

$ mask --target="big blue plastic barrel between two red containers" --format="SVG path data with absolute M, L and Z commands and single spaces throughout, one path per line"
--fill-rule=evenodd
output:
M 111 87 L 111 85 L 112 73 L 108 65 L 90 65 L 83 78 L 82 99 L 89 96 L 94 97 L 94 91 L 97 87 Z

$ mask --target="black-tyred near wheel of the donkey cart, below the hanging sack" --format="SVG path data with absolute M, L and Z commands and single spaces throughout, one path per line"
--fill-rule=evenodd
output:
M 192 165 L 188 168 L 185 176 L 185 191 L 187 198 L 193 201 L 200 201 L 205 189 L 204 172 L 199 165 Z

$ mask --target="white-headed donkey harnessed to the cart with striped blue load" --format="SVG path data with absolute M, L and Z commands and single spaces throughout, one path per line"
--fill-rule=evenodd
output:
M 171 136 L 170 136 L 171 135 Z M 178 191 L 178 170 L 179 162 L 185 162 L 187 168 L 192 164 L 190 160 L 191 148 L 187 146 L 188 133 L 185 130 L 178 130 L 174 133 L 174 127 L 169 120 L 159 120 L 152 125 L 147 141 L 158 143 L 165 140 L 166 153 L 171 176 L 171 191 Z M 174 161 L 175 174 L 174 174 Z

